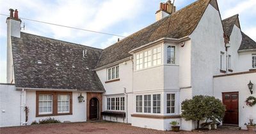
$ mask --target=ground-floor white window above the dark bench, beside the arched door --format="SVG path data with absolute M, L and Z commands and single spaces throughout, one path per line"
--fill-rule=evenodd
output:
M 107 110 L 124 111 L 124 97 L 107 98 Z

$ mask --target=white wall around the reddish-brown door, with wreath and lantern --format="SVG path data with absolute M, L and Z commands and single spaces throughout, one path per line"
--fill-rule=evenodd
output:
M 214 78 L 214 97 L 222 100 L 222 93 L 239 92 L 239 126 L 243 130 L 246 130 L 244 123 L 248 123 L 249 119 L 256 121 L 256 106 L 249 107 L 244 102 L 249 96 L 256 97 L 256 87 L 253 87 L 253 94 L 248 89 L 250 80 L 256 85 L 256 73 Z

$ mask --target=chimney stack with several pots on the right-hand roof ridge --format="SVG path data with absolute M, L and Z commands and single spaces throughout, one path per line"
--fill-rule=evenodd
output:
M 176 6 L 173 5 L 172 1 L 168 0 L 166 3 L 160 3 L 159 10 L 156 11 L 156 20 L 161 20 L 175 11 Z

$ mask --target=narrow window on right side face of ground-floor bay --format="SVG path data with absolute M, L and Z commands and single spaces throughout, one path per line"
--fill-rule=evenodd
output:
M 166 94 L 166 113 L 175 113 L 175 94 Z

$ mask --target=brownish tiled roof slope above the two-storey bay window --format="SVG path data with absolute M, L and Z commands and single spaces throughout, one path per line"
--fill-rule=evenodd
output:
M 154 24 L 131 34 L 118 43 L 105 48 L 96 68 L 131 56 L 129 51 L 161 38 L 183 38 L 189 36 L 200 22 L 210 0 L 198 0 Z M 170 21 L 170 27 L 168 23 Z M 167 31 L 168 30 L 168 31 Z

